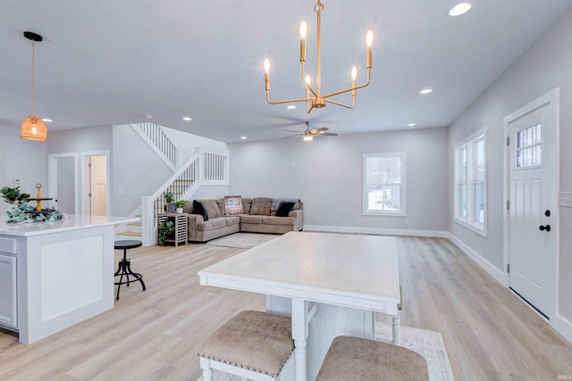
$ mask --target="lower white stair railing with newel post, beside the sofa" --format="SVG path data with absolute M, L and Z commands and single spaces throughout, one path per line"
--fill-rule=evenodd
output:
M 173 199 L 189 200 L 202 185 L 228 186 L 228 153 L 196 150 L 195 155 L 177 170 L 155 194 L 141 199 L 143 244 L 156 244 L 157 214 L 164 212 L 164 194 L 171 192 Z

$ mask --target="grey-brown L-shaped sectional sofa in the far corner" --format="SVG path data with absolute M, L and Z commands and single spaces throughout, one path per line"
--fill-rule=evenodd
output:
M 233 215 L 226 213 L 224 199 L 197 201 L 206 210 L 208 219 L 205 220 L 202 214 L 198 214 L 201 211 L 195 211 L 193 201 L 185 204 L 183 211 L 189 213 L 190 242 L 206 242 L 240 231 L 284 234 L 304 227 L 304 203 L 299 200 L 242 197 L 243 212 Z M 286 217 L 276 216 L 279 207 L 287 202 L 294 203 L 293 210 Z

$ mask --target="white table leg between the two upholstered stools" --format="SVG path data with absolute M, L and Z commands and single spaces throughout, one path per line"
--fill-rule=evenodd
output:
M 294 339 L 294 360 L 296 360 L 296 381 L 307 380 L 307 332 L 308 316 L 306 301 L 292 299 L 292 338 Z

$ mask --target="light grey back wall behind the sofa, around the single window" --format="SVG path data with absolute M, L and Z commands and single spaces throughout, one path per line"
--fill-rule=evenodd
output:
M 231 194 L 304 202 L 305 225 L 351 231 L 447 229 L 447 128 L 229 144 Z M 407 153 L 405 217 L 362 214 L 362 154 Z M 336 220 L 338 218 L 339 220 Z

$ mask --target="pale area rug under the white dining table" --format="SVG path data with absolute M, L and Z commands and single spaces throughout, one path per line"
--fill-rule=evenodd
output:
M 375 323 L 375 338 L 378 340 L 391 340 L 391 325 Z M 450 369 L 449 358 L 439 332 L 427 331 L 412 327 L 401 326 L 401 345 L 425 357 L 429 368 L 431 381 L 454 381 Z M 240 377 L 229 375 L 220 370 L 213 370 L 214 381 L 240 381 Z

